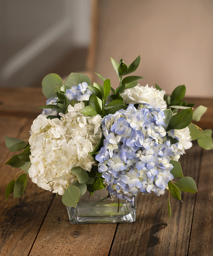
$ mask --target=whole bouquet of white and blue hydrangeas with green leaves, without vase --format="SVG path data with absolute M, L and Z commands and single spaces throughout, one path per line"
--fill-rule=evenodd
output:
M 22 196 L 27 175 L 38 187 L 62 195 L 66 206 L 76 207 L 85 194 L 107 186 L 109 196 L 129 202 L 139 193 L 164 195 L 181 200 L 180 191 L 197 192 L 194 180 L 184 177 L 178 162 L 192 140 L 204 149 L 213 149 L 212 131 L 192 123 L 207 110 L 183 100 L 186 87 L 172 95 L 156 88 L 140 86 L 143 77 L 127 76 L 136 71 L 140 56 L 127 66 L 121 59 L 112 66 L 119 78 L 113 89 L 110 79 L 91 85 L 80 73 L 71 73 L 65 82 L 57 74 L 42 81 L 47 105 L 33 121 L 26 144 L 5 137 L 11 151 L 22 150 L 5 164 L 21 167 L 7 186 Z M 125 76 L 125 78 L 124 78 Z M 173 181 L 174 178 L 180 178 Z M 169 218 L 171 216 L 168 203 Z

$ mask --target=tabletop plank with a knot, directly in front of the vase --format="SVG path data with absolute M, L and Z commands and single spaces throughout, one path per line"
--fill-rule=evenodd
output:
M 61 197 L 54 199 L 30 256 L 107 256 L 116 223 L 71 224 Z

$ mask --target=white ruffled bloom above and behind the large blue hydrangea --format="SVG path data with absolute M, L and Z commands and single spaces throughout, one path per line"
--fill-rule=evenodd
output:
M 137 103 L 148 103 L 155 108 L 164 109 L 167 107 L 164 100 L 165 95 L 164 90 L 158 90 L 153 87 L 148 87 L 148 84 L 140 86 L 138 83 L 137 86 L 126 89 L 122 94 L 120 94 L 124 99 L 124 104 L 137 104 Z

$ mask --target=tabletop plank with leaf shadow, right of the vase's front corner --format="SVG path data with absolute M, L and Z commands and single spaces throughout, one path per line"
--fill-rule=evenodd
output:
M 201 149 L 194 145 L 181 157 L 185 176 L 197 180 Z M 169 223 L 164 196 L 140 195 L 135 223 L 119 223 L 110 256 L 186 256 L 191 231 L 195 194 L 181 193 L 182 200 L 170 199 L 172 219 Z

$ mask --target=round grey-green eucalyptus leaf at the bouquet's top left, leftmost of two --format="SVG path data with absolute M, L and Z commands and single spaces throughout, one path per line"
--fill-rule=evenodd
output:
M 60 91 L 63 81 L 59 75 L 51 73 L 44 77 L 41 84 L 44 96 L 49 99 L 56 97 L 56 92 Z

